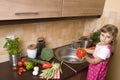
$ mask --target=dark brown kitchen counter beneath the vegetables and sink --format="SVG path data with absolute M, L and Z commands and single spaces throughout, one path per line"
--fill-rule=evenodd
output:
M 57 59 L 53 59 L 55 62 L 59 62 Z M 63 63 L 62 71 L 63 73 L 60 75 L 60 80 L 66 80 L 78 72 L 82 71 L 88 66 L 88 63 L 82 64 L 67 64 Z M 12 66 L 10 66 L 9 61 L 0 63 L 0 80 L 40 80 L 38 76 L 32 75 L 32 70 L 23 73 L 21 76 L 18 75 L 17 71 L 12 70 Z

